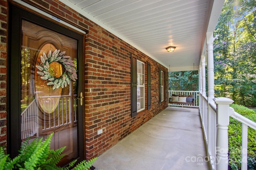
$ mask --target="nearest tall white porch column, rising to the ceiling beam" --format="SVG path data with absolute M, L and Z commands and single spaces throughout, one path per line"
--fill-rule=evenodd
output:
M 214 98 L 213 32 L 206 33 L 208 102 Z

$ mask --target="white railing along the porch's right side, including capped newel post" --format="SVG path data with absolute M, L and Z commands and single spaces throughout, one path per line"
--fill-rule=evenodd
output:
M 200 94 L 200 117 L 213 170 L 228 170 L 228 125 L 230 116 L 242 122 L 242 170 L 247 170 L 248 127 L 256 130 L 256 123 L 229 107 L 232 100 L 214 98 L 208 102 Z M 206 109 L 207 108 L 207 109 Z

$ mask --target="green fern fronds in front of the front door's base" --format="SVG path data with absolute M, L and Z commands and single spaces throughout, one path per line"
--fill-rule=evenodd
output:
M 72 161 L 68 167 L 57 166 L 64 156 L 62 152 L 66 147 L 57 150 L 50 149 L 53 134 L 50 134 L 44 141 L 42 141 L 42 138 L 36 138 L 30 144 L 28 144 L 27 139 L 19 150 L 20 154 L 12 160 L 9 155 L 4 154 L 3 148 L 0 147 L 0 170 L 69 170 L 72 168 L 77 160 Z M 95 160 L 96 158 L 88 162 L 83 160 L 74 170 L 88 170 Z

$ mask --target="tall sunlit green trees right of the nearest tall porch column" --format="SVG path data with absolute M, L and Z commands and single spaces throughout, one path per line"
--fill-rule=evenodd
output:
M 216 96 L 256 106 L 256 1 L 226 0 L 215 30 Z

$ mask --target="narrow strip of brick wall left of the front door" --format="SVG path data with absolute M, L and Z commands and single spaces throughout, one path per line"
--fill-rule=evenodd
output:
M 0 0 L 0 146 L 6 147 L 7 0 Z

